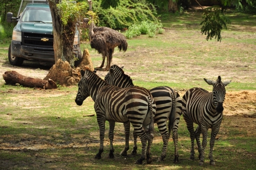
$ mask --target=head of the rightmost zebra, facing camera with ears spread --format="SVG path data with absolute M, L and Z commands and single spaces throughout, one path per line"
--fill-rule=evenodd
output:
M 218 113 L 223 112 L 223 102 L 225 100 L 225 94 L 226 89 L 225 86 L 231 83 L 231 81 L 221 81 L 221 76 L 219 75 L 216 81 L 207 80 L 204 78 L 204 81 L 207 82 L 207 84 L 212 85 L 212 96 L 213 96 L 213 102 L 216 107 L 216 111 Z

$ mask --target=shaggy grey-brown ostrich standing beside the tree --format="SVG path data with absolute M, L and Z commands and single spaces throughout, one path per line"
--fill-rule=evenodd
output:
M 92 1 L 88 0 L 88 3 L 89 10 L 91 10 Z M 88 21 L 88 18 L 84 18 L 85 23 L 88 23 Z M 107 57 L 107 66 L 103 69 L 104 71 L 108 71 L 111 66 L 114 49 L 118 46 L 119 51 L 125 52 L 128 47 L 124 35 L 105 26 L 97 27 L 93 24 L 93 20 L 90 23 L 89 36 L 91 48 L 96 49 L 99 54 L 102 54 L 102 64 L 99 68 L 104 66 L 105 58 Z

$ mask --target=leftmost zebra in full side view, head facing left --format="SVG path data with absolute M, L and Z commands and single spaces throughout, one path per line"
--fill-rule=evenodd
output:
M 142 164 L 145 158 L 147 163 L 150 164 L 152 162 L 150 158 L 151 134 L 154 130 L 153 117 L 156 110 L 155 101 L 151 93 L 147 89 L 138 86 L 123 89 L 108 85 L 90 70 L 81 70 L 80 74 L 82 77 L 78 83 L 75 102 L 81 106 L 89 96 L 94 101 L 100 136 L 99 153 L 96 154 L 95 158 L 101 158 L 101 153 L 103 152 L 105 121 L 109 121 L 110 158 L 114 158 L 113 131 L 115 122 L 125 124 L 125 136 L 129 136 L 131 122 L 142 143 L 141 156 L 136 164 Z M 126 143 L 124 150 L 128 150 L 128 147 L 129 145 Z

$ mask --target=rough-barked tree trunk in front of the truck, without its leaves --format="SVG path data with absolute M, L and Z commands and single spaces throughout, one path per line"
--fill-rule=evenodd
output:
M 68 23 L 66 26 L 61 21 L 61 14 L 57 8 L 57 4 L 61 0 L 48 0 L 52 14 L 53 26 L 53 48 L 55 53 L 55 63 L 58 59 L 67 61 L 71 67 L 74 67 L 73 41 L 75 37 L 74 23 Z

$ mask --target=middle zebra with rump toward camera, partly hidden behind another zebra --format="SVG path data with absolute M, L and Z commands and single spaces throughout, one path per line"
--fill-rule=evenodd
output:
M 130 76 L 126 75 L 122 70 L 123 67 L 112 65 L 109 72 L 105 76 L 105 81 L 108 84 L 119 86 L 122 88 L 128 88 L 134 86 Z M 175 144 L 175 158 L 174 163 L 178 163 L 178 124 L 180 121 L 180 115 L 182 113 L 182 100 L 180 95 L 172 88 L 168 86 L 159 86 L 149 90 L 156 102 L 156 114 L 154 116 L 154 123 L 157 123 L 158 129 L 163 138 L 162 153 L 157 161 L 164 161 L 166 157 L 166 150 L 169 143 L 170 132 L 172 130 L 172 138 Z M 169 118 L 168 130 L 166 128 L 166 122 Z M 129 139 L 126 139 L 129 140 Z M 134 148 L 132 154 L 137 153 L 137 135 L 134 133 Z M 126 155 L 127 153 L 121 153 Z

